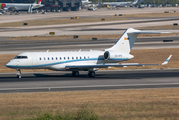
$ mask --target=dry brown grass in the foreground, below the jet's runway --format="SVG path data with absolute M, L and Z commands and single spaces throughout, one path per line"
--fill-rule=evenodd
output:
M 0 94 L 0 101 L 1 120 L 76 116 L 82 106 L 101 120 L 179 118 L 179 88 Z

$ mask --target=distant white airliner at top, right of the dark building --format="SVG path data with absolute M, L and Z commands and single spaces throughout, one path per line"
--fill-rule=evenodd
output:
M 112 6 L 132 6 L 138 3 L 138 0 L 134 0 L 133 2 L 104 2 L 103 5 L 112 5 Z

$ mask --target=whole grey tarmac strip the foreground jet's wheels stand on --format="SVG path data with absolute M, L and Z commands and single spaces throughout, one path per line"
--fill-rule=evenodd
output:
M 179 87 L 179 69 L 98 71 L 94 78 L 81 72 L 0 74 L 0 93 L 54 92 L 76 90 L 146 89 Z

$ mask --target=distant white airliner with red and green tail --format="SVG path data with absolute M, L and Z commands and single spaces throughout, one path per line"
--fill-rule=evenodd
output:
M 41 4 L 42 0 L 35 0 L 33 4 L 22 4 L 22 3 L 0 3 L 0 9 L 4 11 L 12 10 L 12 11 L 19 11 L 19 10 L 27 10 L 28 12 L 32 12 L 33 9 L 43 7 L 44 5 Z

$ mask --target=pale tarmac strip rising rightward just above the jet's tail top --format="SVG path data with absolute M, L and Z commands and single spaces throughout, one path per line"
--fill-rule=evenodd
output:
M 134 19 L 107 22 L 74 23 L 44 26 L 8 27 L 0 29 L 0 36 L 46 36 L 49 32 L 55 35 L 98 35 L 98 34 L 122 34 L 124 29 L 148 26 L 173 25 L 178 23 L 178 17 L 166 17 L 157 19 Z M 159 30 L 161 31 L 161 30 Z M 177 29 L 162 30 L 167 32 L 178 32 Z

